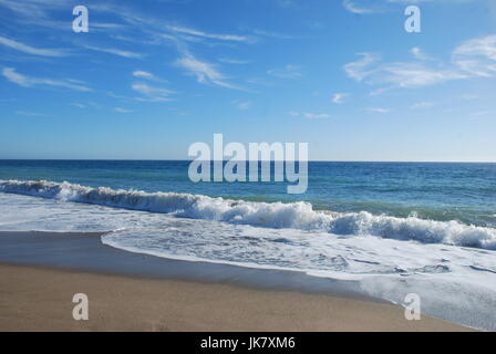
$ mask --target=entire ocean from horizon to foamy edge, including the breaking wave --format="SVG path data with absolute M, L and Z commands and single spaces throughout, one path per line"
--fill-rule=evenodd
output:
M 194 184 L 188 164 L 0 160 L 0 230 L 105 231 L 130 252 L 416 293 L 428 314 L 496 330 L 496 164 L 313 162 L 302 195 Z

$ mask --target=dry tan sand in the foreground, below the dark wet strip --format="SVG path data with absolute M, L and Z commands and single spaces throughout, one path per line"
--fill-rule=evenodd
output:
M 466 331 L 385 303 L 220 283 L 0 266 L 0 331 Z M 72 317 L 74 293 L 89 321 Z

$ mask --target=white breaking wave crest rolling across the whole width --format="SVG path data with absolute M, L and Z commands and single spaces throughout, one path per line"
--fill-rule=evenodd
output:
M 496 229 L 436 221 L 416 216 L 397 218 L 366 211 L 340 214 L 313 210 L 309 202 L 261 202 L 178 192 L 145 192 L 92 188 L 46 180 L 0 180 L 0 191 L 107 207 L 173 214 L 177 217 L 264 228 L 292 228 L 342 236 L 369 235 L 423 243 L 446 243 L 496 250 Z

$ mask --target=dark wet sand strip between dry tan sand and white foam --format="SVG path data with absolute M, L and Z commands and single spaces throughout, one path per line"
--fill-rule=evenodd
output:
M 0 264 L 144 279 L 224 283 L 262 290 L 334 294 L 368 301 L 354 281 L 309 277 L 304 272 L 186 261 L 135 253 L 101 241 L 105 232 L 0 231 Z

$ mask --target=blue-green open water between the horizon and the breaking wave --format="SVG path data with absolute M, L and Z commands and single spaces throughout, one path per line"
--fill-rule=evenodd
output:
M 0 160 L 0 179 L 69 181 L 147 192 L 251 201 L 308 201 L 314 209 L 496 227 L 496 164 L 309 163 L 308 190 L 286 183 L 198 183 L 186 160 Z M 273 178 L 272 178 L 273 180 Z

